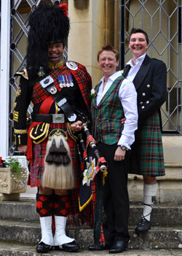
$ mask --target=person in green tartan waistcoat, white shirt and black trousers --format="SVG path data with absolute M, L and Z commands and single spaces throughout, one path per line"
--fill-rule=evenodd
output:
M 135 140 L 138 123 L 137 93 L 122 71 L 116 71 L 119 53 L 110 44 L 98 52 L 98 66 L 103 78 L 95 86 L 91 114 L 93 136 L 98 141 L 98 150 L 108 163 L 108 174 L 103 187 L 103 222 L 105 243 L 90 250 L 109 249 L 119 253 L 127 249 L 129 198 L 127 171 L 130 146 Z M 124 125 L 122 118 L 126 117 Z

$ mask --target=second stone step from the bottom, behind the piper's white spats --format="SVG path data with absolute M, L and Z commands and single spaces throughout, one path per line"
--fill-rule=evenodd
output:
M 148 233 L 136 235 L 135 227 L 130 226 L 130 249 L 178 249 L 182 245 L 181 226 L 151 227 Z M 76 238 L 82 248 L 93 243 L 91 228 L 72 228 L 68 236 Z M 21 244 L 37 244 L 41 238 L 41 229 L 37 221 L 0 220 L 0 241 Z

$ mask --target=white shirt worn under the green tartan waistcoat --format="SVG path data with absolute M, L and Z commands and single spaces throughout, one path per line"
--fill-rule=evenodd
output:
M 108 88 L 112 85 L 114 80 L 122 75 L 122 71 L 117 71 L 112 74 L 111 77 L 108 77 L 108 82 L 106 82 L 105 88 L 103 90 L 104 77 L 100 79 L 100 87 L 98 90 L 98 95 L 96 98 L 97 106 L 100 103 L 103 96 L 106 94 Z M 137 130 L 138 124 L 138 110 L 137 110 L 137 93 L 135 86 L 128 79 L 124 79 L 122 85 L 119 88 L 119 99 L 122 103 L 124 110 L 124 117 L 126 121 L 124 122 L 124 128 L 122 131 L 122 136 L 118 141 L 119 146 L 125 146 L 128 149 L 130 145 L 135 141 L 135 130 Z

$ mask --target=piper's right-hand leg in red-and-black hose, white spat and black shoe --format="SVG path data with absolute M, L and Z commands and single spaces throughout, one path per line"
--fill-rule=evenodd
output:
M 66 252 L 76 252 L 79 245 L 74 238 L 66 236 L 66 219 L 68 209 L 68 196 L 66 190 L 55 190 L 54 215 L 55 215 L 55 237 L 54 244 L 57 248 Z

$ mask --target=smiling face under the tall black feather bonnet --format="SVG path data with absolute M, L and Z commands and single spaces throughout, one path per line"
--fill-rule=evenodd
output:
M 49 44 L 48 45 L 48 57 L 50 62 L 53 64 L 58 64 L 61 61 L 63 55 L 64 47 L 62 43 Z

